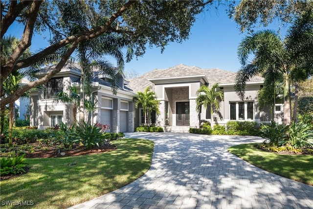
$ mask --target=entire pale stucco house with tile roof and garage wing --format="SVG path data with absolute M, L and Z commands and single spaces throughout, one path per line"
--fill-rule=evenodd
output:
M 44 76 L 51 67 L 39 70 L 38 77 Z M 106 74 L 95 71 L 91 99 L 96 110 L 86 112 L 85 121 L 95 124 L 109 124 L 111 132 L 133 132 L 134 128 L 143 125 L 142 108 L 134 107 L 134 97 L 138 91 L 143 92 L 151 86 L 159 100 L 160 114 L 152 114 L 151 120 L 165 131 L 186 132 L 190 127 L 199 127 L 200 120 L 209 120 L 210 113 L 204 107 L 200 118 L 196 111 L 197 90 L 201 85 L 209 87 L 219 83 L 224 93 L 221 101 L 222 119 L 215 116 L 219 124 L 230 120 L 256 121 L 270 120 L 269 110 L 259 111 L 257 93 L 263 88 L 263 78 L 255 76 L 246 83 L 245 99 L 241 100 L 234 90 L 236 73 L 221 69 L 200 69 L 178 65 L 163 70 L 153 70 L 130 81 L 123 73 L 116 72 L 118 91 L 113 95 L 110 78 Z M 79 88 L 81 70 L 77 64 L 67 64 L 55 77 L 49 80 L 44 89 L 32 92 L 31 125 L 38 128 L 51 127 L 60 122 L 72 124 L 73 105 L 55 103 L 55 93 L 68 91 L 69 85 Z

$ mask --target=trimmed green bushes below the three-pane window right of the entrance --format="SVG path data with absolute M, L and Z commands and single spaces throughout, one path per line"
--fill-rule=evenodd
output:
M 202 128 L 190 128 L 189 133 L 193 134 L 213 134 L 213 135 L 240 135 L 257 136 L 258 130 L 255 129 L 255 121 L 228 121 L 226 127 L 223 125 L 214 125 L 211 130 L 210 123 L 203 123 Z

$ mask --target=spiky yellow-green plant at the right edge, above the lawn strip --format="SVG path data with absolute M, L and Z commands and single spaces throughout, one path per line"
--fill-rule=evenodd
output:
M 311 126 L 303 122 L 292 122 L 288 130 L 288 144 L 293 148 L 313 146 L 313 130 Z

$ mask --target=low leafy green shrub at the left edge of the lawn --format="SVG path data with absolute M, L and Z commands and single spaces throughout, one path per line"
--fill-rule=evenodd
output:
M 1 157 L 0 160 L 0 175 L 16 175 L 26 172 L 27 164 L 24 158 L 25 154 L 21 156 L 14 155 L 12 157 Z

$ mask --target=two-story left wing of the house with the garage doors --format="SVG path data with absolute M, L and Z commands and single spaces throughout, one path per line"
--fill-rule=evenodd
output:
M 39 70 L 36 74 L 37 77 L 43 77 L 53 67 L 48 66 Z M 116 76 L 118 78 L 118 90 L 116 95 L 113 95 L 109 76 L 95 71 L 91 84 L 91 99 L 95 103 L 96 109 L 85 112 L 85 121 L 92 124 L 97 122 L 108 124 L 112 132 L 134 131 L 133 98 L 136 94 L 126 87 L 128 81 L 123 73 L 116 71 Z M 58 92 L 68 93 L 68 87 L 72 85 L 75 85 L 79 92 L 80 77 L 79 65 L 66 64 L 42 89 L 33 91 L 31 93 L 30 125 L 44 129 L 61 122 L 73 124 L 74 106 L 62 102 L 57 103 L 54 98 Z

